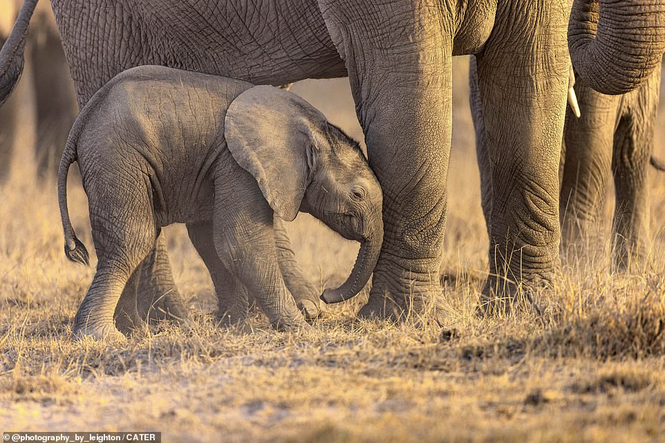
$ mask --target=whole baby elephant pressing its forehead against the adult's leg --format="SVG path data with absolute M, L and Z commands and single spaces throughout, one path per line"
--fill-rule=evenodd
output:
M 231 324 L 245 322 L 247 292 L 274 327 L 303 324 L 277 263 L 273 211 L 287 221 L 310 213 L 361 242 L 350 277 L 324 291 L 326 302 L 358 293 L 379 257 L 381 188 L 359 145 L 272 86 L 141 66 L 102 87 L 77 117 L 58 173 L 65 253 L 87 263 L 67 210 L 74 161 L 99 257 L 76 313 L 77 337 L 122 338 L 116 324 L 127 332 L 142 322 L 133 272 L 171 223 L 187 224 L 214 280 L 235 282 L 215 285 L 219 314 Z

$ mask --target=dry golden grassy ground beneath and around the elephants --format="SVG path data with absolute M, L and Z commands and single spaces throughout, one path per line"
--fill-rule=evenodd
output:
M 538 297 L 540 315 L 476 319 L 487 236 L 464 63 L 456 69 L 443 330 L 356 322 L 364 293 L 311 333 L 275 333 L 259 315 L 254 334 L 220 331 L 212 283 L 174 226 L 171 261 L 198 326 L 153 327 L 124 346 L 73 343 L 93 268 L 64 258 L 55 186 L 35 186 L 19 167 L 0 190 L 0 431 L 150 430 L 201 442 L 664 440 L 665 175 L 653 177 L 648 269 L 612 276 L 592 257 Z M 344 81 L 334 92 L 327 84 L 294 90 L 316 90 L 312 102 L 357 135 Z M 91 245 L 86 199 L 72 182 L 73 221 Z M 292 239 L 322 287 L 344 279 L 357 250 L 303 215 Z

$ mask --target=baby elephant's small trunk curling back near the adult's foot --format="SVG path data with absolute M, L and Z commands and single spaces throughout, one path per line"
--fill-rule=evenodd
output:
M 362 242 L 358 251 L 358 257 L 355 259 L 355 265 L 353 265 L 351 275 L 348 276 L 346 282 L 337 289 L 326 289 L 323 295 L 321 295 L 321 299 L 328 304 L 339 303 L 354 297 L 362 291 L 379 260 L 382 242 L 382 232 Z

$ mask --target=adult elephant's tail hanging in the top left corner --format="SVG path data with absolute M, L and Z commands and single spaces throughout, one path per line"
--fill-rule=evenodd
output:
M 23 72 L 23 52 L 30 17 L 37 0 L 25 0 L 14 23 L 14 28 L 0 50 L 0 105 L 10 96 Z

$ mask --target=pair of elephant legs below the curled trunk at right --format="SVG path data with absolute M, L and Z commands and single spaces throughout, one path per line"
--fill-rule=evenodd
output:
M 616 270 L 645 263 L 650 248 L 648 175 L 660 92 L 660 66 L 642 86 L 603 95 L 578 79 L 578 119 L 566 115 L 561 181 L 563 250 L 583 252 L 596 242 L 608 182 L 615 185 L 612 257 Z

